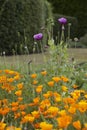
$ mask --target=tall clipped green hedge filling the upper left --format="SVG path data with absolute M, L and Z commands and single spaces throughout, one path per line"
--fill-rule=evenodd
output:
M 41 32 L 51 7 L 46 0 L 0 0 L 0 53 L 33 52 L 33 35 Z M 46 39 L 45 39 L 46 40 Z

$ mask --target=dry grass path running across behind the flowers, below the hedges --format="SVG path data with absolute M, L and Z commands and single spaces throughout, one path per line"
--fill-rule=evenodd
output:
M 69 58 L 74 58 L 77 63 L 87 62 L 87 49 L 70 48 L 68 49 Z M 30 54 L 21 56 L 5 56 L 0 57 L 0 68 L 13 68 L 25 69 L 28 71 L 28 63 L 32 61 L 32 64 L 36 66 L 44 64 L 48 58 L 48 52 L 44 53 L 45 60 L 42 54 Z M 31 65 L 32 65 L 31 64 Z M 27 67 L 26 67 L 27 66 Z

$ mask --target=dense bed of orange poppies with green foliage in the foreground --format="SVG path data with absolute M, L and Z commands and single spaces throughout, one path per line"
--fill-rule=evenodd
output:
M 0 71 L 0 130 L 87 129 L 87 91 L 46 70 L 22 77 Z

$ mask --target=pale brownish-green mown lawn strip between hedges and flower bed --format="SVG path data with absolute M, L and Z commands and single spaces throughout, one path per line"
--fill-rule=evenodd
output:
M 87 61 L 87 49 L 81 48 L 70 48 L 68 49 L 69 58 L 74 58 L 77 62 Z M 36 65 L 43 64 L 47 61 L 48 52 L 44 53 L 45 60 L 43 55 L 40 54 L 30 54 L 30 55 L 18 55 L 18 56 L 5 56 L 0 57 L 0 65 L 2 64 L 16 64 L 17 63 L 28 63 L 30 60 Z

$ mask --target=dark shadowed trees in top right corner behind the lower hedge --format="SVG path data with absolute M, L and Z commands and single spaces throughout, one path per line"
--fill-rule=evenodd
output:
M 72 16 L 78 20 L 77 37 L 87 33 L 87 1 L 86 0 L 48 0 L 52 3 L 53 12 Z

